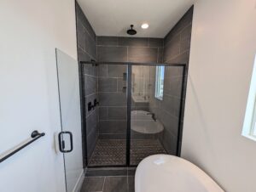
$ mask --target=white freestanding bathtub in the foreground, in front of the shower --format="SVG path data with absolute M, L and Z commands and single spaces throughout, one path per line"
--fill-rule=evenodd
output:
M 173 155 L 152 155 L 137 167 L 135 192 L 224 192 L 199 167 Z

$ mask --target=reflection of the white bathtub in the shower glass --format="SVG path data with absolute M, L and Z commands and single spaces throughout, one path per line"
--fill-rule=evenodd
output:
M 162 123 L 158 120 L 154 121 L 152 115 L 144 110 L 131 111 L 131 130 L 137 133 L 155 134 L 164 130 Z

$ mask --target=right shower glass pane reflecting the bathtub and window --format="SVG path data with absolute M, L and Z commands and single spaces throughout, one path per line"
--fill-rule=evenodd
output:
M 182 80 L 182 66 L 132 66 L 131 166 L 148 155 L 177 154 Z

